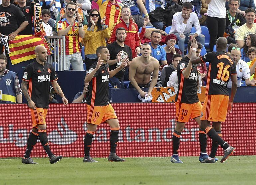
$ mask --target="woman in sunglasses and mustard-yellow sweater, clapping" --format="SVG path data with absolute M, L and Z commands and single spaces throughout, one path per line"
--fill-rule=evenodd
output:
M 83 38 L 85 46 L 85 64 L 86 68 L 98 61 L 96 49 L 99 46 L 106 46 L 106 39 L 110 37 L 108 25 L 105 25 L 106 16 L 101 19 L 99 11 L 92 9 L 89 13 L 88 25 L 83 27 L 85 36 Z

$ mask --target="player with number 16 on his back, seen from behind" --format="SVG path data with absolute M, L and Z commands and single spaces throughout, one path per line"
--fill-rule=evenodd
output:
M 209 62 L 208 79 L 206 86 L 206 98 L 201 114 L 201 129 L 212 139 L 211 153 L 201 163 L 215 163 L 218 145 L 224 150 L 220 162 L 225 162 L 235 149 L 221 138 L 221 122 L 226 120 L 227 113 L 232 110 L 232 104 L 237 89 L 236 66 L 231 57 L 226 53 L 227 39 L 220 37 L 216 42 L 217 52 L 210 52 L 202 57 L 196 57 L 192 53 L 191 62 L 197 64 Z M 231 76 L 232 88 L 229 98 L 227 84 Z M 210 126 L 212 122 L 212 127 Z

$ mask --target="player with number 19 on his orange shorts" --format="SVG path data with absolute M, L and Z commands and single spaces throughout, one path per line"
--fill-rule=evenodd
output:
M 106 63 L 110 59 L 108 48 L 100 46 L 96 50 L 98 62 L 90 66 L 89 72 L 85 77 L 85 83 L 90 82 L 88 86 L 89 96 L 87 100 L 87 131 L 84 138 L 84 159 L 83 162 L 98 162 L 90 156 L 92 137 L 96 132 L 97 126 L 107 122 L 111 128 L 110 133 L 110 154 L 109 161 L 122 162 L 116 155 L 116 146 L 118 142 L 119 123 L 116 113 L 108 102 L 109 78 L 127 66 L 126 62 L 112 71 L 109 71 L 109 65 Z M 120 61 L 121 54 L 117 54 L 117 61 Z

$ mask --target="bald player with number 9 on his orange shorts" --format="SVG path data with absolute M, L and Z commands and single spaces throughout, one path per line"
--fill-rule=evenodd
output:
M 27 149 L 22 158 L 24 164 L 37 164 L 30 158 L 30 153 L 39 137 L 40 143 L 46 151 L 50 163 L 53 164 L 62 159 L 62 156 L 55 156 L 50 150 L 46 135 L 46 114 L 49 105 L 49 89 L 52 84 L 54 90 L 62 97 L 65 105 L 68 100 L 65 98 L 59 84 L 53 65 L 46 62 L 47 50 L 44 46 L 35 48 L 36 60 L 26 66 L 23 73 L 21 89 L 28 101 L 32 117 L 32 130 L 28 137 Z

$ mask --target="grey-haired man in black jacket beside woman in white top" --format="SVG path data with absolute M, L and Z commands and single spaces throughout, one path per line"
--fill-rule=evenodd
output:
M 227 10 L 226 14 L 226 29 L 225 29 L 225 37 L 227 38 L 228 44 L 235 44 L 235 31 L 240 26 L 246 23 L 245 19 L 241 14 L 237 12 L 240 5 L 240 0 L 229 0 L 228 6 L 229 10 Z

